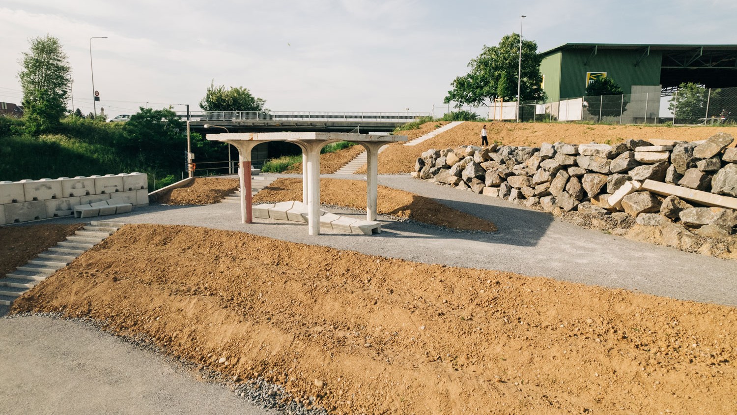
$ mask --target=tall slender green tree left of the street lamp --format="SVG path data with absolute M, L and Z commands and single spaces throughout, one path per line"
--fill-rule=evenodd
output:
M 18 72 L 23 89 L 23 106 L 29 133 L 40 133 L 59 125 L 66 113 L 71 68 L 57 38 L 46 35 L 29 41 Z

